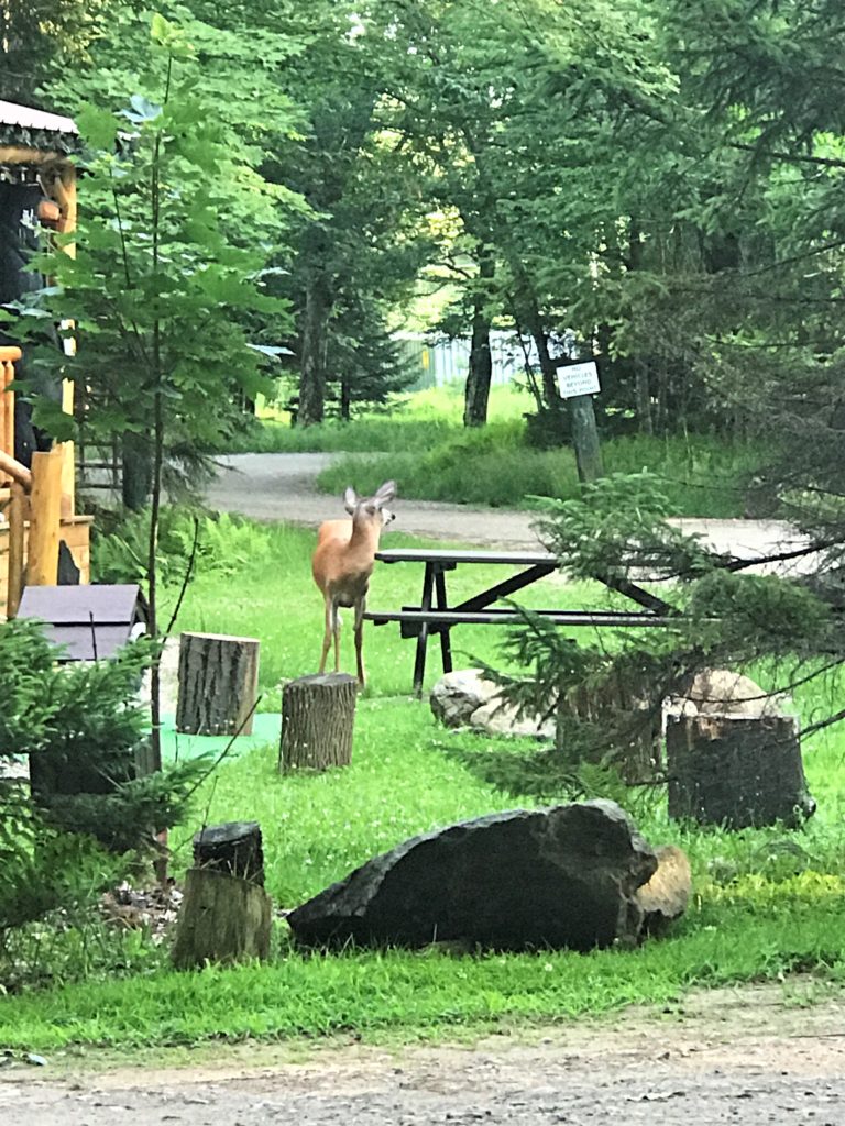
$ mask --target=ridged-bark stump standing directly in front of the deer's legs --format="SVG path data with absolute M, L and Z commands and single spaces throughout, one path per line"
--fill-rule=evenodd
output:
M 279 770 L 349 766 L 357 688 L 357 680 L 345 672 L 300 677 L 285 685 Z

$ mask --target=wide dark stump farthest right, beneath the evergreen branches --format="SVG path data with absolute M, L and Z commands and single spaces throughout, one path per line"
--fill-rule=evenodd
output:
M 666 757 L 670 817 L 744 829 L 816 810 L 794 716 L 669 716 Z

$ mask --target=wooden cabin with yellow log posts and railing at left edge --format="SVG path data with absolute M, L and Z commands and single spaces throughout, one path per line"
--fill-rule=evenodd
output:
M 0 101 L 0 304 L 17 300 L 32 284 L 19 269 L 27 253 L 51 229 L 72 232 L 77 224 L 77 173 L 72 157 L 79 133 L 69 117 Z M 66 248 L 74 252 L 73 245 Z M 17 289 L 17 292 L 16 292 Z M 0 338 L 0 618 L 14 616 L 24 581 L 59 582 L 63 542 L 89 581 L 91 518 L 75 511 L 72 443 L 33 449 L 23 443 L 26 412 L 9 384 L 23 359 L 14 327 Z M 73 385 L 59 393 L 73 411 Z M 16 418 L 17 417 L 17 418 Z M 41 444 L 43 445 L 43 443 Z

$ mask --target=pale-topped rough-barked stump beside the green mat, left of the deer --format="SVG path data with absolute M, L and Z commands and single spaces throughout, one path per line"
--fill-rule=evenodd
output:
M 255 637 L 184 633 L 176 730 L 189 735 L 251 734 L 258 650 Z

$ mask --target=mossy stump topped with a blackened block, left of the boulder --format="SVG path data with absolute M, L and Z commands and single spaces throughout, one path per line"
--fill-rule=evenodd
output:
M 194 837 L 194 864 L 185 877 L 174 965 L 264 962 L 270 948 L 270 900 L 263 886 L 258 823 L 204 829 Z

